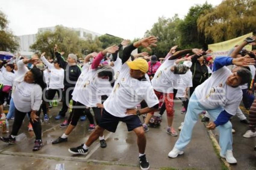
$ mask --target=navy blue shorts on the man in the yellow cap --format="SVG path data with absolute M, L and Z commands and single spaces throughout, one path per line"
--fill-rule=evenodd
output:
M 115 117 L 105 111 L 105 109 L 103 109 L 102 111 L 101 119 L 98 123 L 98 126 L 108 130 L 109 132 L 116 132 L 119 121 L 126 123 L 128 131 L 132 131 L 133 129 L 142 126 L 142 123 L 137 115 Z

